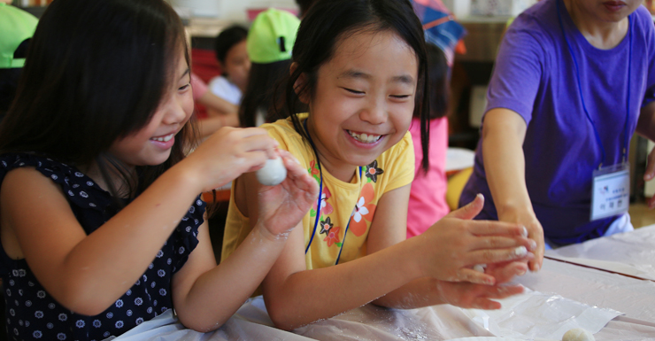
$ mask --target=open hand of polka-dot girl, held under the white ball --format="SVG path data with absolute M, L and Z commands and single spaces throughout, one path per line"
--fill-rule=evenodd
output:
M 261 186 L 258 192 L 259 222 L 276 237 L 288 236 L 319 198 L 319 185 L 307 170 L 289 151 L 278 153 L 287 178 L 276 186 Z

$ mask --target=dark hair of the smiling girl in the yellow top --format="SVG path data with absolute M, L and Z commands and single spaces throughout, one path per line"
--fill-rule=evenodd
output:
M 286 105 L 297 132 L 306 136 L 297 118 L 298 97 L 313 97 L 320 66 L 335 54 L 337 43 L 358 32 L 390 30 L 407 43 L 418 58 L 419 80 L 414 105 L 414 115 L 420 117 L 420 143 L 423 148 L 421 167 L 429 167 L 429 101 L 428 66 L 425 38 L 420 20 L 413 12 L 409 0 L 330 0 L 317 1 L 306 13 L 298 28 L 293 47 L 296 69 L 286 82 Z M 295 89 L 297 79 L 306 75 L 307 81 Z

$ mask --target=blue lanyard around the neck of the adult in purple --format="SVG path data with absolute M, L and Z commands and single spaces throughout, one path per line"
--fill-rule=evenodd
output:
M 568 51 L 571 53 L 571 58 L 574 60 L 574 66 L 575 66 L 575 74 L 577 76 L 578 80 L 578 91 L 580 92 L 580 99 L 582 101 L 582 109 L 584 109 L 584 113 L 587 114 L 587 120 L 590 121 L 591 127 L 594 128 L 594 134 L 596 136 L 596 142 L 598 143 L 598 146 L 600 147 L 600 151 L 603 155 L 603 159 L 600 160 L 600 165 L 598 168 L 603 167 L 603 162 L 605 162 L 605 147 L 603 146 L 603 142 L 600 140 L 600 135 L 598 134 L 598 130 L 596 128 L 596 125 L 594 124 L 594 120 L 591 120 L 591 115 L 589 111 L 587 110 L 587 105 L 584 103 L 584 95 L 582 94 L 582 81 L 580 81 L 580 68 L 578 66 L 578 61 L 575 58 L 574 50 L 571 48 L 571 43 L 569 43 L 568 38 L 566 37 L 566 31 L 564 30 L 564 24 L 562 23 L 562 13 L 559 11 L 559 3 L 561 0 L 556 0 L 557 3 L 557 10 L 558 10 L 558 19 L 559 19 L 559 27 L 562 30 L 562 35 L 564 35 L 564 40 L 566 41 L 566 46 L 568 47 Z M 628 39 L 630 43 L 629 47 L 629 52 L 628 52 L 628 98 L 626 99 L 626 122 L 624 125 L 624 139 L 623 139 L 623 150 L 622 150 L 622 155 L 623 159 L 622 162 L 626 162 L 626 155 L 628 154 L 628 121 L 630 119 L 630 76 L 632 74 L 632 31 L 633 29 L 631 28 L 632 26 L 632 20 L 630 20 L 630 16 L 628 15 Z

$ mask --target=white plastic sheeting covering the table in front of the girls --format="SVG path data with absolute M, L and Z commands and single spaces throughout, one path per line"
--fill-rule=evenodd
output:
M 634 235 L 604 237 L 575 245 L 569 250 L 577 250 L 576 255 L 581 257 L 610 254 L 607 257 L 624 264 L 638 265 L 649 261 L 655 264 L 655 256 L 651 256 L 655 254 L 655 228 L 637 229 L 630 233 Z M 544 260 L 538 273 L 528 273 L 518 277 L 515 282 L 531 291 L 501 300 L 503 308 L 498 311 L 465 310 L 450 305 L 409 310 L 366 305 L 291 333 L 273 327 L 264 300 L 258 297 L 250 299 L 220 329 L 210 333 L 184 329 L 173 313 L 168 312 L 152 321 L 143 322 L 116 340 L 396 341 L 467 337 L 471 341 L 490 341 L 512 337 L 543 341 L 561 340 L 559 333 L 563 334 L 562 330 L 566 332 L 570 328 L 582 327 L 593 332 L 597 331 L 598 326 L 601 329 L 594 334 L 597 341 L 655 340 L 655 282 L 558 260 Z M 543 309 L 539 309 L 540 306 Z M 625 315 L 612 319 L 612 314 L 617 314 L 610 313 L 612 309 Z M 545 317 L 554 320 L 542 326 L 536 325 L 534 329 L 526 327 L 529 321 Z M 575 322 L 575 326 L 570 322 Z M 520 336 L 510 336 L 503 329 L 520 332 Z

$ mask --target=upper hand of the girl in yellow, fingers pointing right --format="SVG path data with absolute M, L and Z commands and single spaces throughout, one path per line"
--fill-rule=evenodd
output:
M 478 195 L 470 204 L 437 221 L 424 234 L 408 240 L 420 243 L 415 249 L 421 254 L 417 259 L 421 260 L 423 275 L 449 282 L 492 285 L 497 283 L 496 278 L 475 271 L 475 264 L 512 264 L 534 257 L 530 251 L 536 249 L 536 243 L 525 236 L 525 228 L 519 224 L 471 221 L 483 204 L 484 198 Z M 496 270 L 494 274 L 500 274 L 498 271 L 505 270 Z

